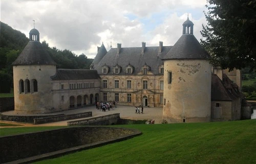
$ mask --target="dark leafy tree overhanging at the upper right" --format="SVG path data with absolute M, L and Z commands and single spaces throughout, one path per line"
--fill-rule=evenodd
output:
M 207 0 L 202 46 L 222 69 L 256 68 L 256 0 Z

